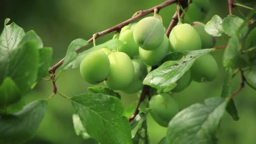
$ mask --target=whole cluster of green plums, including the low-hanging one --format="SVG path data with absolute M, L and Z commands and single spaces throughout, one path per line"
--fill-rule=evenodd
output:
M 118 46 L 117 51 L 101 48 L 88 53 L 81 61 L 80 73 L 88 83 L 104 82 L 113 90 L 136 93 L 143 87 L 147 68 L 168 61 L 168 53 L 213 48 L 215 39 L 205 32 L 204 27 L 203 23 L 197 21 L 179 24 L 172 29 L 168 38 L 159 16 L 146 17 L 121 29 L 119 40 L 125 44 Z M 217 63 L 211 54 L 200 56 L 176 82 L 172 92 L 184 90 L 192 80 L 212 81 L 217 71 Z M 179 112 L 176 101 L 167 93 L 152 96 L 149 108 L 154 120 L 165 127 Z

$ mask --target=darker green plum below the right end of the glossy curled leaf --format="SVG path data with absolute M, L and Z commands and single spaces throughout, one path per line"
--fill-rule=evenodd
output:
M 192 80 L 197 82 L 213 81 L 218 72 L 216 60 L 207 53 L 197 58 L 190 68 Z

